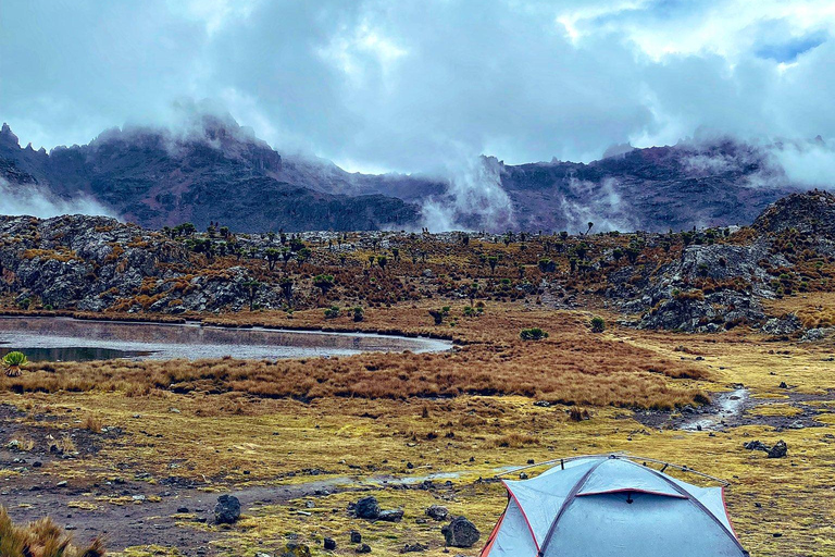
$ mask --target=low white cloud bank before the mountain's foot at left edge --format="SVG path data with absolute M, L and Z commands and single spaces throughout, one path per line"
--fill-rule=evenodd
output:
M 60 214 L 113 216 L 101 203 L 79 196 L 59 199 L 33 184 L 9 184 L 0 177 L 0 214 L 25 214 L 49 219 Z

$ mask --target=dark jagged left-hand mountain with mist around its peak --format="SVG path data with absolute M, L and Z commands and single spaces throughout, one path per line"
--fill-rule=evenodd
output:
M 410 226 L 420 216 L 418 206 L 396 197 L 344 195 L 349 173 L 287 164 L 236 123 L 210 116 L 185 136 L 111 129 L 89 145 L 49 153 L 21 148 L 4 125 L 0 173 L 12 188 L 38 185 L 60 198 L 85 195 L 124 220 L 157 228 L 220 221 L 239 231 L 377 230 Z

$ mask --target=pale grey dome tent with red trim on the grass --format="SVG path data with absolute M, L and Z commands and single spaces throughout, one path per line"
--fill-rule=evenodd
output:
M 690 485 L 663 473 L 671 465 L 659 471 L 632 458 L 578 457 L 531 480 L 506 481 L 508 507 L 479 556 L 748 555 L 727 517 L 724 487 Z

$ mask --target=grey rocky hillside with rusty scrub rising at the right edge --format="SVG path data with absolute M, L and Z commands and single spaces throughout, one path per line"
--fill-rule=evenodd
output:
M 621 307 L 640 312 L 647 329 L 716 332 L 738 324 L 764 326 L 773 334 L 799 329 L 786 317 L 767 322 L 761 300 L 832 288 L 835 271 L 835 196 L 793 194 L 769 207 L 750 228 L 715 243 L 718 231 L 691 235 L 678 260 L 651 273 L 634 271 L 613 282 L 609 296 L 627 298 Z M 632 294 L 632 296 L 631 296 Z

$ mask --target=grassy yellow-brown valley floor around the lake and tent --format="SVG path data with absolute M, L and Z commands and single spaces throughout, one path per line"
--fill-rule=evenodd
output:
M 832 338 L 594 334 L 587 312 L 489 304 L 440 327 L 416 306 L 379 308 L 360 324 L 320 315 L 235 320 L 443 332 L 459 347 L 277 364 L 34 364 L 0 379 L 0 503 L 15 521 L 50 515 L 79 541 L 104 533 L 114 555 L 250 557 L 281 555 L 289 541 L 327 555 L 323 536 L 352 555 L 351 530 L 373 555 L 415 543 L 441 555 L 444 522 L 424 515 L 439 504 L 478 527 L 475 547 L 450 549 L 474 556 L 504 508 L 497 473 L 628 451 L 727 479 L 752 556 L 835 553 Z M 521 341 L 529 326 L 549 337 Z M 713 404 L 700 406 L 706 394 Z M 570 419 L 575 407 L 590 419 Z M 784 440 L 788 455 L 743 447 L 757 440 Z M 352 518 L 349 503 L 370 492 L 403 520 Z M 212 524 L 223 493 L 242 503 L 234 525 Z

